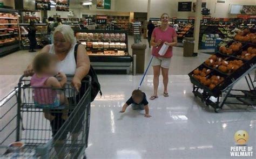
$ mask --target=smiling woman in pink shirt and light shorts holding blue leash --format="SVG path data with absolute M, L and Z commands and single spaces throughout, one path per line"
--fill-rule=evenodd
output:
M 167 86 L 169 82 L 169 67 L 171 63 L 172 57 L 172 47 L 177 45 L 177 34 L 173 27 L 169 26 L 170 17 L 167 13 L 163 13 L 160 17 L 161 25 L 159 27 L 154 28 L 150 44 L 153 46 L 152 55 L 153 61 L 153 72 L 154 72 L 154 93 L 150 97 L 151 100 L 158 98 L 158 85 L 159 85 L 159 76 L 160 71 L 163 75 L 163 83 L 164 83 L 164 97 L 169 97 Z M 167 52 L 161 56 L 158 54 L 161 46 L 166 44 L 169 46 Z

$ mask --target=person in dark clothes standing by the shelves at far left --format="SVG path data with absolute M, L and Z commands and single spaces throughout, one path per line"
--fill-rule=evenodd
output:
M 37 45 L 37 41 L 36 41 L 36 26 L 35 26 L 35 21 L 31 20 L 28 26 L 28 38 L 29 38 L 29 52 L 36 52 L 35 48 Z

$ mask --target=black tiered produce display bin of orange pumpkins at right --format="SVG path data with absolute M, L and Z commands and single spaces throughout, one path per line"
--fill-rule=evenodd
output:
M 232 45 L 233 42 L 236 41 L 232 40 L 228 42 L 226 47 Z M 256 68 L 256 56 L 250 56 L 250 58 L 248 59 L 241 56 L 242 54 L 246 54 L 245 51 L 247 51 L 249 47 L 256 49 L 256 44 L 252 44 L 251 42 L 241 42 L 241 44 L 242 46 L 240 47 L 240 49 L 236 52 L 233 52 L 230 55 L 221 53 L 219 52 L 219 50 L 217 51 L 217 53 L 212 55 L 216 56 L 217 59 L 219 58 L 225 62 L 227 61 L 228 64 L 230 64 L 230 61 L 234 62 L 235 60 L 237 60 L 236 62 L 242 62 L 239 68 L 232 68 L 231 70 L 225 71 L 224 73 L 223 70 L 219 68 L 220 66 L 218 66 L 218 64 L 213 65 L 211 63 L 209 64 L 206 62 L 202 63 L 198 68 L 196 68 L 198 70 L 202 70 L 203 68 L 209 69 L 211 73 L 208 74 L 206 78 L 211 77 L 212 75 L 224 77 L 224 80 L 218 85 L 216 85 L 213 89 L 210 89 L 208 86 L 206 86 L 206 83 L 203 81 L 203 79 L 198 79 L 198 76 L 194 75 L 194 73 L 197 73 L 197 71 L 194 71 L 196 69 L 194 69 L 193 71 L 191 71 L 191 73 L 188 74 L 188 76 L 190 77 L 190 81 L 193 84 L 194 95 L 201 98 L 201 101 L 205 102 L 206 105 L 213 106 L 215 112 L 219 112 L 219 110 L 223 108 L 224 104 L 231 104 L 226 101 L 227 98 L 235 98 L 239 100 L 240 105 L 253 105 L 253 101 L 256 101 L 256 87 L 254 86 L 255 81 L 252 81 L 250 75 L 250 72 Z M 253 55 L 253 53 L 251 54 Z M 217 61 L 215 62 L 217 63 Z M 221 65 L 223 64 L 221 63 Z M 246 78 L 246 83 L 250 90 L 233 90 L 234 84 L 237 83 L 242 77 Z M 238 92 L 238 94 L 234 94 L 231 92 Z M 213 102 L 211 100 L 211 97 L 215 97 L 217 100 Z

